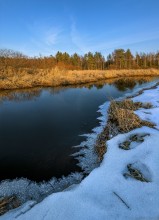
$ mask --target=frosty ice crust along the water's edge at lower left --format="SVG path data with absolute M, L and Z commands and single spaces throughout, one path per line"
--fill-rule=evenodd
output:
M 21 204 L 28 200 L 41 201 L 46 196 L 60 192 L 72 184 L 78 184 L 83 178 L 82 173 L 71 173 L 67 177 L 57 179 L 53 177 L 49 181 L 36 183 L 26 178 L 4 180 L 0 183 L 0 197 L 15 195 Z

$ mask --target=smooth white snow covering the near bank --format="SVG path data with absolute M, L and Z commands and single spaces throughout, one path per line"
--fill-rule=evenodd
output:
M 28 201 L 0 219 L 159 219 L 159 86 L 145 90 L 133 100 L 152 103 L 153 108 L 136 113 L 156 123 L 155 129 L 142 127 L 117 135 L 107 142 L 108 150 L 100 167 L 80 184 L 54 193 L 39 204 Z M 132 141 L 130 150 L 119 148 L 133 135 L 142 137 L 142 141 Z M 146 182 L 132 178 L 128 165 L 139 170 Z

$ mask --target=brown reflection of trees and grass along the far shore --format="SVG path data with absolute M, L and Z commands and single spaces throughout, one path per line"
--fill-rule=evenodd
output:
M 129 77 L 129 78 L 115 78 L 102 80 L 95 83 L 86 83 L 80 85 L 60 86 L 60 87 L 48 87 L 45 88 L 50 94 L 58 94 L 69 88 L 88 88 L 102 89 L 105 85 L 114 85 L 119 91 L 126 91 L 127 89 L 133 89 L 137 84 L 151 82 L 155 80 L 155 77 Z M 43 88 L 30 88 L 30 89 L 15 89 L 15 90 L 0 90 L 0 101 L 29 101 L 40 97 Z

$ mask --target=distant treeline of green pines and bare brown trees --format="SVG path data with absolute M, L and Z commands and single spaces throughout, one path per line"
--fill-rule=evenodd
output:
M 159 68 L 159 52 L 136 53 L 130 49 L 114 50 L 105 58 L 100 52 L 88 52 L 83 56 L 57 52 L 55 56 L 28 57 L 20 52 L 0 49 L 0 68 L 54 68 L 68 70 L 147 69 Z

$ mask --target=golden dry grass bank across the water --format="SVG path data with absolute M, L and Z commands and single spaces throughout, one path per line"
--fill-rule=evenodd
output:
M 0 89 L 67 86 L 112 78 L 137 76 L 159 76 L 159 69 L 66 71 L 59 68 L 13 69 L 8 67 L 0 70 Z

